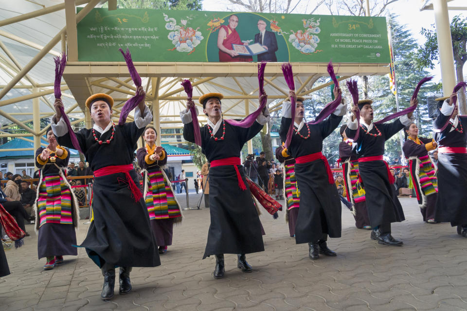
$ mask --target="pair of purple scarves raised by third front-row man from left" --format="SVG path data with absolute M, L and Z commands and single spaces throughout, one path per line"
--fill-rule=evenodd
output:
M 290 63 L 283 64 L 282 72 L 284 73 L 284 78 L 286 79 L 288 88 L 290 90 L 295 91 L 295 83 L 293 81 L 292 65 L 290 65 Z M 334 73 L 332 62 L 329 62 L 329 64 L 327 64 L 327 72 L 331 76 L 331 80 L 334 82 L 334 85 L 339 87 L 339 81 L 337 81 L 336 74 Z M 339 96 L 336 99 L 334 99 L 334 101 L 327 104 L 323 108 L 323 110 L 321 110 L 321 112 L 318 114 L 318 116 L 315 118 L 314 121 L 308 122 L 308 124 L 318 124 L 322 122 L 324 119 L 326 119 L 327 117 L 329 117 L 329 115 L 333 113 L 334 110 L 336 110 L 337 106 L 341 104 L 341 99 L 342 99 L 341 94 L 339 94 Z M 293 119 L 295 118 L 295 105 L 296 105 L 295 100 L 291 99 L 290 108 L 291 108 L 291 114 L 292 114 L 291 116 L 292 122 L 290 123 L 290 127 L 287 131 L 287 139 L 285 141 L 286 148 L 288 148 L 288 146 L 290 145 L 290 140 L 292 139 L 292 135 L 293 135 L 293 126 L 294 126 Z

